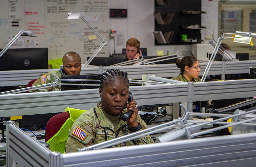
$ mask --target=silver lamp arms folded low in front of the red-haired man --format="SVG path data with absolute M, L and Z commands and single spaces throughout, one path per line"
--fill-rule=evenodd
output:
M 133 64 L 133 65 L 155 64 L 156 62 L 179 58 L 177 56 L 178 52 L 179 51 L 177 51 L 176 54 L 171 54 L 171 55 L 166 55 L 166 56 L 159 56 L 159 57 L 151 58 L 151 59 L 144 59 L 143 56 L 141 55 L 140 59 L 128 60 L 128 61 L 124 61 L 124 62 L 121 62 L 121 63 L 113 64 L 113 65 L 110 65 L 110 66 L 121 66 L 121 65 L 129 65 L 129 64 Z

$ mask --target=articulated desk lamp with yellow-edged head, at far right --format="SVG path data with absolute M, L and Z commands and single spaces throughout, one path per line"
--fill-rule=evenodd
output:
M 207 74 L 210 70 L 211 64 L 217 54 L 217 52 L 219 51 L 220 54 L 227 60 L 229 61 L 234 61 L 234 58 L 232 58 L 232 56 L 230 56 L 229 54 L 225 54 L 220 48 L 220 44 L 222 42 L 223 39 L 233 39 L 234 42 L 238 42 L 238 43 L 247 43 L 247 44 L 251 44 L 252 45 L 252 37 L 256 37 L 255 33 L 252 32 L 242 32 L 242 31 L 236 31 L 235 33 L 226 33 L 224 34 L 224 32 L 222 30 L 221 31 L 221 37 L 218 38 L 218 41 L 216 42 L 216 44 L 214 43 L 214 41 L 211 41 L 211 44 L 215 44 L 215 48 L 213 50 L 213 53 L 209 59 L 209 62 L 206 66 L 205 72 L 201 78 L 200 82 L 204 82 Z M 232 35 L 232 37 L 224 37 L 225 35 Z M 253 45 L 252 45 L 253 46 Z

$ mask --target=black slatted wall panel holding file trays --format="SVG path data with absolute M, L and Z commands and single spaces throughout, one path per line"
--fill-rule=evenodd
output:
M 182 42 L 180 41 L 181 35 L 186 34 L 190 39 L 201 39 L 201 29 L 183 29 L 182 26 L 189 25 L 201 25 L 201 12 L 199 14 L 185 14 L 184 11 L 201 11 L 201 0 L 167 0 L 166 5 L 157 5 L 155 2 L 155 13 L 161 12 L 164 15 L 166 13 L 174 13 L 170 25 L 158 25 L 155 20 L 155 31 L 174 31 L 173 37 L 170 43 L 155 45 L 177 45 L 177 44 L 192 44 L 200 42 Z M 198 40 L 200 41 L 200 40 Z

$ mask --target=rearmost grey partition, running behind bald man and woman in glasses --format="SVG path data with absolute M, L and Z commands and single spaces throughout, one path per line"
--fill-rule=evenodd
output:
M 255 66 L 256 60 L 238 61 L 238 62 L 220 62 L 215 61 L 212 63 L 208 75 L 221 75 L 225 80 L 225 74 L 239 74 L 250 72 L 250 67 Z M 203 75 L 207 63 L 200 63 L 201 72 Z M 103 73 L 107 69 L 118 68 L 128 73 L 129 79 L 142 79 L 144 74 L 154 74 L 158 77 L 170 78 L 177 76 L 180 69 L 176 64 L 156 64 L 156 65 L 126 65 L 126 66 L 95 66 L 90 68 L 82 68 L 81 74 L 95 74 Z M 40 74 L 44 74 L 51 70 L 59 69 L 45 69 L 45 70 L 17 70 L 17 71 L 0 71 L 0 85 L 1 86 L 17 86 L 27 85 L 29 81 L 36 79 Z

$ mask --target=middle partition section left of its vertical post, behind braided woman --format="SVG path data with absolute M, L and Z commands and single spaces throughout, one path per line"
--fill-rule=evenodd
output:
M 184 84 L 131 86 L 140 105 L 186 102 Z M 1 117 L 64 112 L 66 107 L 88 110 L 100 102 L 99 89 L 0 95 Z

